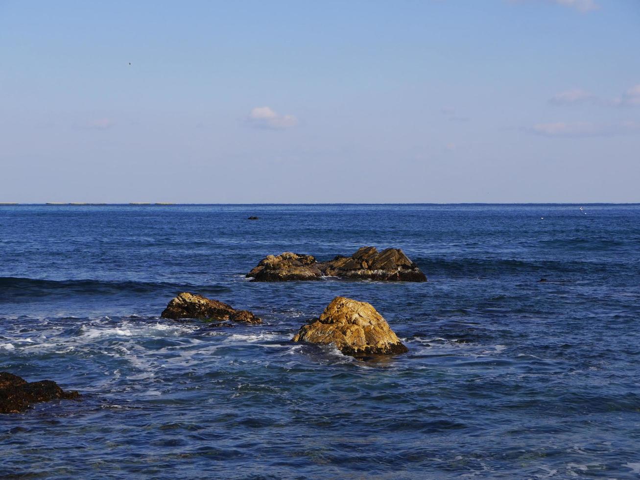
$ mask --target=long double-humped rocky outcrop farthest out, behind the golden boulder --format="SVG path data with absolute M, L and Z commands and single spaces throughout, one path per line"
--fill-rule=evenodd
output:
M 291 252 L 268 255 L 246 276 L 253 277 L 253 282 L 319 280 L 323 276 L 395 282 L 427 281 L 420 268 L 399 248 L 378 252 L 374 246 L 364 246 L 351 257 L 339 255 L 328 262 L 317 262 L 312 255 Z

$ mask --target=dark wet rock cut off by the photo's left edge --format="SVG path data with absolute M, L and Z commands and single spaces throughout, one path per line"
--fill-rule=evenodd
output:
M 17 375 L 0 372 L 0 413 L 24 412 L 33 403 L 78 397 L 78 392 L 65 392 L 51 380 L 29 383 Z

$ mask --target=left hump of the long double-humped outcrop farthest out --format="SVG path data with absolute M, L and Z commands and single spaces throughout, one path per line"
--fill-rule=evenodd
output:
M 319 280 L 323 272 L 313 255 L 284 252 L 267 255 L 246 276 L 254 282 L 285 282 L 287 280 Z

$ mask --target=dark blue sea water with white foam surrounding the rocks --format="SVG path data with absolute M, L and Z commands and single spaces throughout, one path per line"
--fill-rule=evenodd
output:
M 364 245 L 429 282 L 244 278 Z M 640 475 L 639 205 L 0 207 L 0 277 L 0 370 L 84 394 L 0 415 L 0 474 Z M 159 318 L 180 291 L 264 324 Z M 409 353 L 291 344 L 336 295 Z

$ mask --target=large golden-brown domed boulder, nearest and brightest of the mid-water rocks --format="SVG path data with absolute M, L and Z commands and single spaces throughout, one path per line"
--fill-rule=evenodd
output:
M 293 341 L 333 343 L 344 355 L 355 357 L 408 351 L 371 304 L 345 297 L 334 298 L 318 319 L 300 328 Z

